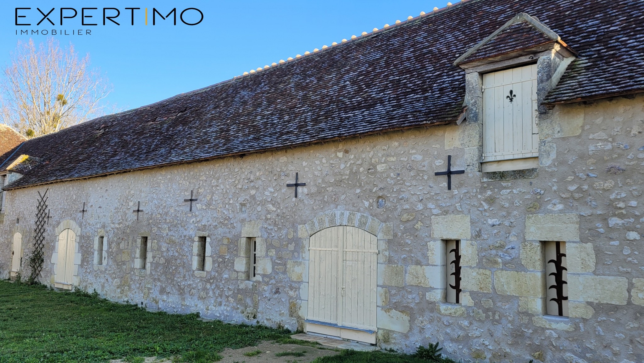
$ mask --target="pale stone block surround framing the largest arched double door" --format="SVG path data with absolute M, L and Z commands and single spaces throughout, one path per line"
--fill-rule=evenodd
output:
M 365 230 L 377 237 L 378 266 L 377 266 L 377 302 L 376 302 L 376 326 L 378 335 L 385 330 L 409 331 L 409 313 L 407 311 L 396 311 L 387 308 L 388 290 L 387 282 L 383 279 L 388 274 L 388 266 L 402 268 L 403 266 L 388 265 L 389 251 L 388 241 L 393 239 L 393 223 L 384 223 L 357 211 L 328 211 L 320 213 L 306 224 L 298 225 L 298 237 L 301 239 L 301 258 L 299 260 L 287 261 L 287 274 L 292 282 L 301 281 L 299 287 L 299 299 L 296 305 L 299 306 L 299 319 L 307 319 L 308 313 L 308 246 L 310 236 L 329 227 L 352 226 Z M 395 271 L 399 273 L 400 271 Z

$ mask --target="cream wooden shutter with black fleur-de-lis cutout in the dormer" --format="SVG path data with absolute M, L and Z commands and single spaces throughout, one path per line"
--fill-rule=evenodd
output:
M 483 75 L 483 161 L 538 157 L 536 64 Z

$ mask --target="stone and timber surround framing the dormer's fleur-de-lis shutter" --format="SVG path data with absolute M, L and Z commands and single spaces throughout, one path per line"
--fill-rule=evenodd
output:
M 562 47 L 560 44 L 555 43 L 552 46 L 552 49 L 544 50 L 541 52 L 536 52 L 534 54 L 526 54 L 526 52 L 513 52 L 507 54 L 498 60 L 498 57 L 490 60 L 488 63 L 485 61 L 474 62 L 475 64 L 460 64 L 460 68 L 463 68 L 465 71 L 465 81 L 466 81 L 466 97 L 465 103 L 467 106 L 466 110 L 466 120 L 467 122 L 464 126 L 470 126 L 477 128 L 479 135 L 477 150 L 473 155 L 476 155 L 477 161 L 468 161 L 467 164 L 469 168 L 466 170 L 468 172 L 481 172 L 482 171 L 482 119 L 483 119 L 483 74 L 489 72 L 495 72 L 499 70 L 504 70 L 507 68 L 515 68 L 518 66 L 525 66 L 527 64 L 537 64 L 537 104 L 538 104 L 538 113 L 537 124 L 539 124 L 539 119 L 541 119 L 544 114 L 549 113 L 549 110 L 546 106 L 542 105 L 545 95 L 556 86 L 559 79 L 565 72 L 568 64 L 570 64 L 574 59 L 574 55 Z M 482 64 L 481 64 L 482 63 Z M 541 133 L 540 133 L 541 137 Z M 544 148 L 544 143 L 548 144 Z M 549 158 L 544 158 L 543 152 L 545 150 L 550 150 L 552 142 L 548 140 L 540 140 L 539 145 L 539 163 L 538 166 L 547 166 Z M 526 159 L 527 160 L 527 159 Z M 522 161 L 522 159 L 509 159 L 502 162 L 495 163 L 495 172 L 509 172 L 515 170 L 526 170 L 526 168 L 533 167 L 531 162 Z M 495 175 L 489 173 L 489 175 L 483 175 L 483 179 L 486 181 L 501 180 L 507 179 L 506 176 L 500 176 L 500 179 L 495 177 Z M 525 177 L 533 177 L 532 173 Z M 516 175 L 511 179 L 516 179 L 521 177 Z

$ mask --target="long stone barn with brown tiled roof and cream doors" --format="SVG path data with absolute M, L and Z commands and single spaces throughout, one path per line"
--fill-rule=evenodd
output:
M 42 240 L 41 282 L 147 309 L 644 362 L 643 17 L 462 1 L 25 141 L 0 277 Z

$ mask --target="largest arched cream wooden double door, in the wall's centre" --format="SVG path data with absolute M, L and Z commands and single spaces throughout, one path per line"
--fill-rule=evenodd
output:
M 377 237 L 331 227 L 309 250 L 307 331 L 375 344 Z

